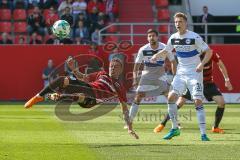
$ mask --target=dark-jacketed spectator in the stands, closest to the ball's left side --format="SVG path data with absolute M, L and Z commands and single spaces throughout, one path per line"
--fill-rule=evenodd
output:
M 33 13 L 28 17 L 28 34 L 37 32 L 38 34 L 45 35 L 45 20 L 39 10 L 39 7 L 34 7 Z

